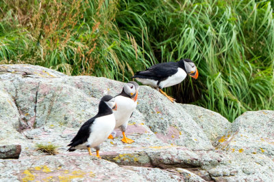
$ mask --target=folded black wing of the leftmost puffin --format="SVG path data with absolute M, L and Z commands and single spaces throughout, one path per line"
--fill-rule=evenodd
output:
M 79 129 L 76 136 L 71 140 L 71 143 L 68 146 L 71 146 L 68 151 L 74 151 L 71 149 L 72 147 L 75 147 L 77 145 L 81 145 L 84 142 L 88 141 L 88 137 L 90 136 L 90 125 L 94 123 L 95 117 L 92 117 L 91 119 L 88 119 Z

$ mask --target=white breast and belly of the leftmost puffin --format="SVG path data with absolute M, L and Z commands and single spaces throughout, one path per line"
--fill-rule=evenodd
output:
M 90 144 L 90 147 L 97 147 L 103 141 L 105 141 L 114 130 L 114 127 L 114 114 L 95 119 L 94 123 L 90 127 L 91 133 L 90 137 L 88 138 L 88 144 Z

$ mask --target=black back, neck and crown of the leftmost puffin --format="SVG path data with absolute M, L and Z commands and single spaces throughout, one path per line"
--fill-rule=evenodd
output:
M 98 117 L 103 117 L 106 115 L 111 115 L 112 114 L 112 109 L 105 104 L 105 102 L 108 102 L 112 99 L 113 97 L 110 95 L 105 95 L 101 98 L 101 101 L 99 103 L 99 110 L 97 115 L 94 117 L 88 119 L 79 129 L 77 132 L 76 136 L 71 140 L 71 143 L 68 146 L 71 146 L 68 151 L 75 151 L 75 149 L 71 149 L 77 145 L 81 145 L 84 142 L 88 141 L 88 137 L 90 136 L 90 126 L 94 123 L 95 119 Z

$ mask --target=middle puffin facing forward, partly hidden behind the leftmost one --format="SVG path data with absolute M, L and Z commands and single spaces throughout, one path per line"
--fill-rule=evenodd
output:
M 139 85 L 137 82 L 127 82 L 123 87 L 123 91 L 115 97 L 118 108 L 113 111 L 116 120 L 115 128 L 120 128 L 123 134 L 122 142 L 125 143 L 134 142 L 134 140 L 125 136 L 125 130 L 127 129 L 129 118 L 132 117 L 137 106 L 138 89 Z M 108 138 L 113 138 L 112 134 Z

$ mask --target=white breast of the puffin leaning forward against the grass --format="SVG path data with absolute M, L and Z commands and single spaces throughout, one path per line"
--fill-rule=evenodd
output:
M 160 82 L 160 88 L 164 88 L 164 87 L 171 87 L 173 85 L 177 85 L 178 83 L 182 82 L 182 80 L 184 80 L 184 78 L 186 78 L 186 72 L 182 69 L 178 67 L 178 71 L 176 74 L 173 74 L 172 76 L 169 76 L 168 78 L 166 78 L 166 80 L 163 80 L 162 82 Z

